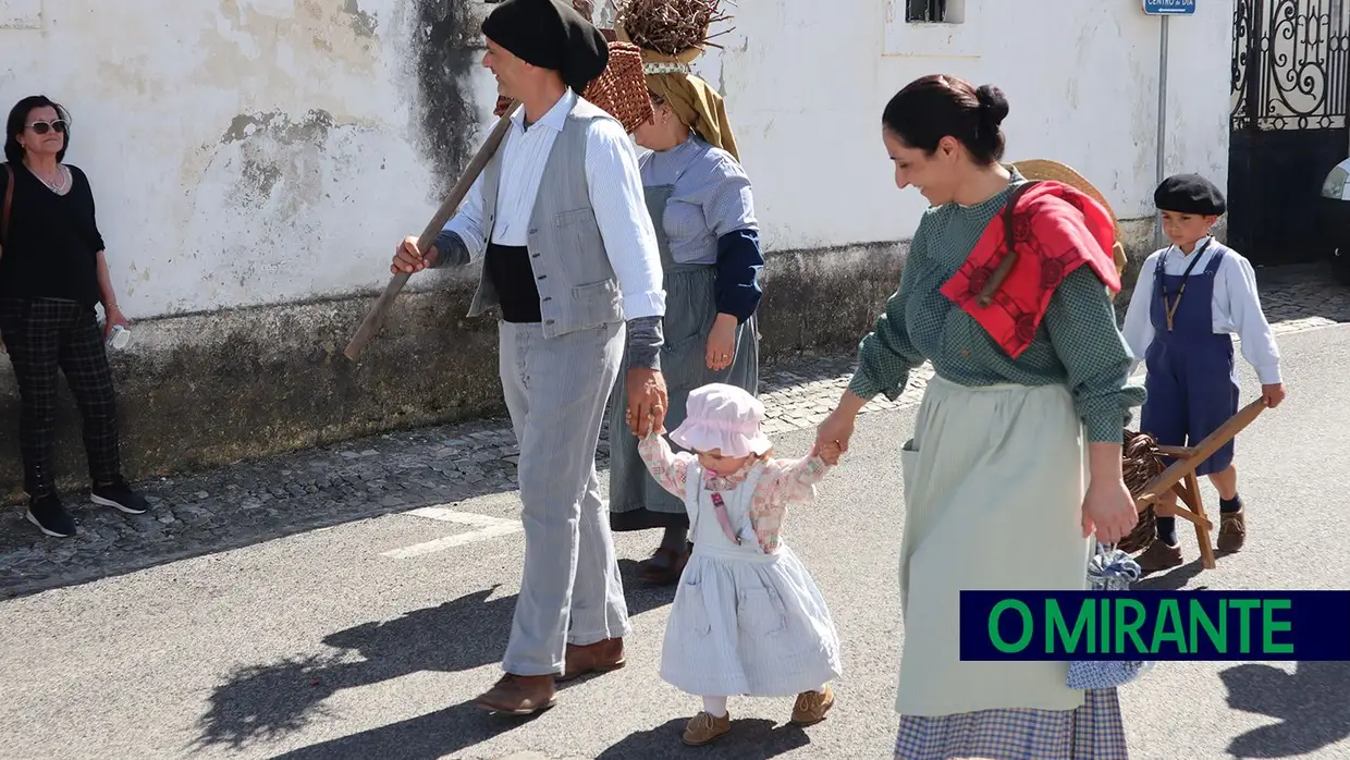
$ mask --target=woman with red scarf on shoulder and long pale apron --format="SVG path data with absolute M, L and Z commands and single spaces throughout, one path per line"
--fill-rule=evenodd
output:
M 963 590 L 1084 590 L 1091 536 L 1135 524 L 1120 450 L 1143 390 L 1111 306 L 1111 215 L 1000 165 L 1007 113 L 996 88 L 944 76 L 886 107 L 895 184 L 933 205 L 818 444 L 846 450 L 867 401 L 933 363 L 900 451 L 895 756 L 1123 759 L 1115 690 L 1069 688 L 1068 663 L 960 659 Z

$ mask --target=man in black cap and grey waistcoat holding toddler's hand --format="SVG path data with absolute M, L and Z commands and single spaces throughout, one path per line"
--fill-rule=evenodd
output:
M 558 0 L 506 0 L 483 22 L 483 65 L 522 105 L 433 246 L 393 270 L 482 259 L 470 316 L 501 309 L 501 381 L 520 441 L 525 568 L 505 675 L 477 705 L 529 714 L 554 682 L 624 666 L 624 586 L 595 445 L 625 351 L 633 433 L 660 429 L 666 293 L 637 153 L 579 96 L 603 73 L 599 30 Z

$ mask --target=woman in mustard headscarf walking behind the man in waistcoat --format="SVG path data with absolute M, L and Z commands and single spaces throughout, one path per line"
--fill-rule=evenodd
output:
M 701 50 L 666 55 L 630 39 L 622 26 L 616 36 L 643 47 L 652 97 L 652 119 L 633 138 L 651 151 L 641 159 L 641 174 L 664 269 L 660 360 L 670 393 L 666 427 L 674 429 L 695 387 L 720 382 L 757 394 L 755 313 L 764 256 L 751 181 L 738 163 L 722 97 L 688 66 Z M 641 576 L 675 583 L 691 548 L 684 504 L 643 466 L 622 405 L 610 409 L 610 528 L 663 528 L 660 547 L 643 564 Z

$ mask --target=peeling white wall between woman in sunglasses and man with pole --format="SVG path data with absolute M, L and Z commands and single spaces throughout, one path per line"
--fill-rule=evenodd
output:
M 0 100 L 70 109 L 132 320 L 350 294 L 475 147 L 479 5 L 46 0 Z

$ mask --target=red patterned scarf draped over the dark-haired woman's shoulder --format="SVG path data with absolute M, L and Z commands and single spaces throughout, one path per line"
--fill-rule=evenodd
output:
M 1112 294 L 1120 292 L 1120 274 L 1111 259 L 1114 244 L 1115 223 L 1102 204 L 1061 182 L 1035 182 L 1014 190 L 1008 208 L 990 220 L 941 293 L 1017 359 L 1035 337 L 1054 289 L 1079 266 L 1092 267 Z M 1011 269 L 983 305 L 981 292 L 1010 246 L 1017 254 Z

